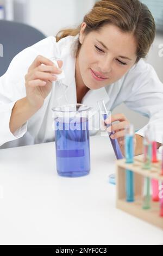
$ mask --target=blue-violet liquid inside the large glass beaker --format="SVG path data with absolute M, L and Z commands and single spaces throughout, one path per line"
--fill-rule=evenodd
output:
M 72 130 L 71 121 L 55 122 L 55 147 L 57 172 L 61 176 L 79 177 L 90 172 L 89 127 L 86 118 L 75 119 Z

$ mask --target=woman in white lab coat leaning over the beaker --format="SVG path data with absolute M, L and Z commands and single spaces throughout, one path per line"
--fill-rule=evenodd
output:
M 61 72 L 50 60 L 53 56 L 62 60 L 62 89 L 69 103 L 97 109 L 97 100 L 103 98 L 112 110 L 125 102 L 151 118 L 159 146 L 163 87 L 152 66 L 143 61 L 154 36 L 154 19 L 146 5 L 138 0 L 103 0 L 77 29 L 61 31 L 56 40 L 50 36 L 17 54 L 0 80 L 0 144 L 6 143 L 2 148 L 54 140 L 51 108 L 63 99 L 57 82 L 52 86 Z M 129 120 L 116 114 L 114 121 L 119 122 L 111 125 L 113 138 L 124 152 L 122 138 Z M 135 155 L 142 153 L 145 129 L 135 135 Z

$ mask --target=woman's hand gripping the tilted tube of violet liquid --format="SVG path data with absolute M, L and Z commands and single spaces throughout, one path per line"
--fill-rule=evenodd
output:
M 118 121 L 116 124 L 112 124 L 113 122 Z M 105 120 L 106 124 L 111 125 L 106 129 L 108 132 L 114 132 L 110 137 L 112 139 L 117 139 L 121 152 L 123 156 L 125 155 L 125 128 L 129 125 L 129 120 L 125 117 L 124 114 L 115 114 L 111 115 L 111 118 Z M 136 148 L 136 136 L 134 135 L 134 149 Z

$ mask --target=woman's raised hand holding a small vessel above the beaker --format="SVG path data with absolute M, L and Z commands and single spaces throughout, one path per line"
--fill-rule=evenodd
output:
M 51 60 L 40 55 L 30 65 L 25 80 L 26 98 L 31 107 L 35 109 L 42 107 L 45 98 L 51 92 L 52 82 L 56 81 L 56 75 L 61 73 L 61 60 L 58 60 L 58 65 L 59 69 Z

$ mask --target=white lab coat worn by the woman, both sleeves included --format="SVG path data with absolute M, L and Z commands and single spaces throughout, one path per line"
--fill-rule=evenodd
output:
M 45 99 L 43 106 L 14 135 L 10 132 L 9 121 L 12 108 L 17 100 L 26 96 L 24 76 L 37 55 L 46 58 L 53 56 L 63 61 L 62 69 L 65 78 L 62 87 L 69 103 L 77 103 L 75 64 L 72 46 L 77 37 L 67 36 L 56 42 L 54 36 L 49 36 L 35 45 L 26 48 L 12 60 L 7 72 L 0 77 L 0 148 L 17 147 L 54 141 L 52 107 L 62 99 L 62 90 L 57 82 L 51 93 Z M 156 124 L 156 141 L 163 142 L 163 84 L 151 65 L 140 60 L 129 72 L 117 82 L 98 90 L 89 90 L 84 96 L 83 104 L 98 109 L 97 100 L 104 99 L 108 110 L 125 102 L 136 112 L 150 118 L 149 122 Z M 137 133 L 144 135 L 146 127 Z M 91 135 L 97 130 L 91 131 Z

